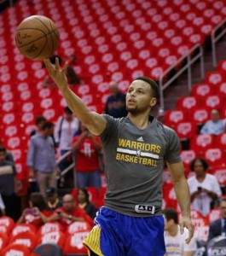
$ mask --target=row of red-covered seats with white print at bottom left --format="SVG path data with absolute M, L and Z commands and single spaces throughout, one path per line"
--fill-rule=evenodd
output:
M 14 224 L 11 218 L 3 217 L 0 218 L 0 253 L 6 255 L 14 245 L 18 245 L 18 248 L 23 250 L 23 247 L 20 247 L 23 245 L 30 255 L 38 245 L 53 243 L 61 247 L 64 254 L 86 254 L 87 250 L 82 242 L 90 230 L 89 224 L 75 222 L 68 226 L 65 236 L 65 231 L 58 223 L 43 224 L 39 230 L 36 230 L 31 224 Z

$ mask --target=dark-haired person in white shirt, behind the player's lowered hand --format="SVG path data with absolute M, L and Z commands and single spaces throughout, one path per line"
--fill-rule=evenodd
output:
M 197 250 L 195 238 L 187 243 L 188 230 L 184 229 L 183 234 L 180 232 L 178 224 L 178 214 L 172 208 L 163 210 L 165 218 L 165 256 L 193 256 Z

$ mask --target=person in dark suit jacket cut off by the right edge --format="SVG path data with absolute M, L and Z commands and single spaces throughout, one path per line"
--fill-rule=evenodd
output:
M 210 224 L 208 241 L 216 236 L 226 236 L 226 198 L 220 200 L 221 218 Z

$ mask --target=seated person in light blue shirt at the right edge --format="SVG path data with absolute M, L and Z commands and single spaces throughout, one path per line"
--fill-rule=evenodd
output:
M 202 126 L 200 134 L 219 135 L 225 131 L 225 121 L 220 119 L 220 113 L 217 109 L 212 109 L 211 120 Z

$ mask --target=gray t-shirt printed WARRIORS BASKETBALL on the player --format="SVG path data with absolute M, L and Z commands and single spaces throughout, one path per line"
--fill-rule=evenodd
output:
M 176 132 L 152 116 L 151 125 L 144 130 L 133 125 L 128 117 L 102 116 L 107 120 L 101 134 L 106 159 L 105 207 L 125 215 L 149 217 L 153 213 L 137 212 L 136 206 L 154 206 L 154 215 L 161 214 L 164 161 L 181 161 Z

